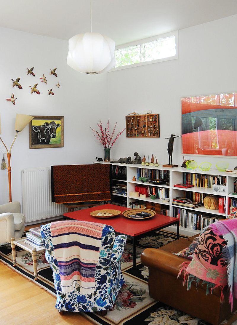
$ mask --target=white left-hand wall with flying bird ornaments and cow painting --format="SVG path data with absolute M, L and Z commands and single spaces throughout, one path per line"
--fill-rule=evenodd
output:
M 103 147 L 93 137 L 89 125 L 95 127 L 99 119 L 108 119 L 107 74 L 90 76 L 71 69 L 66 64 L 66 41 L 0 28 L 0 44 L 1 137 L 8 150 L 15 136 L 16 113 L 64 116 L 64 148 L 29 149 L 28 126 L 17 136 L 11 157 L 12 200 L 21 202 L 22 168 L 91 163 L 96 155 L 103 157 Z M 27 75 L 27 68 L 31 67 L 35 77 Z M 57 78 L 49 75 L 49 69 L 54 68 Z M 40 82 L 43 73 L 47 85 Z M 11 79 L 18 77 L 22 90 L 12 88 Z M 58 82 L 59 89 L 55 85 Z M 41 95 L 31 95 L 29 85 L 36 83 Z M 50 88 L 54 96 L 48 96 Z M 6 101 L 12 93 L 18 98 L 15 106 Z M 6 169 L 0 170 L 0 204 L 7 201 Z

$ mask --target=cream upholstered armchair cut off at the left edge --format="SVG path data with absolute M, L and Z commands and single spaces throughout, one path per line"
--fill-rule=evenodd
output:
M 25 215 L 20 213 L 20 202 L 0 205 L 0 243 L 11 242 L 11 237 L 21 238 L 25 229 Z

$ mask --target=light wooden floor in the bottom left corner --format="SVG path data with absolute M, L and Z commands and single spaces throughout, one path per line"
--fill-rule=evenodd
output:
M 28 230 L 34 226 L 28 226 Z M 94 324 L 80 313 L 60 315 L 56 297 L 0 262 L 0 324 L 64 325 Z

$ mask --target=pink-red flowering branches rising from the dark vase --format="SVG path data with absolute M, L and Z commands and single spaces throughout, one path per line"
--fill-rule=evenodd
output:
M 102 145 L 104 146 L 104 148 L 111 148 L 114 144 L 114 142 L 118 139 L 119 136 L 121 136 L 121 134 L 124 132 L 125 128 L 120 131 L 115 138 L 112 140 L 113 136 L 114 136 L 114 132 L 115 132 L 115 128 L 117 125 L 117 122 L 114 125 L 112 134 L 110 134 L 110 120 L 108 120 L 107 123 L 107 127 L 105 127 L 105 129 L 103 129 L 102 123 L 101 121 L 99 121 L 99 123 L 97 123 L 97 125 L 99 126 L 99 132 L 94 130 L 91 126 L 90 128 L 92 129 L 93 132 L 95 132 L 96 134 L 94 135 L 100 143 L 102 143 Z M 111 144 L 112 142 L 112 144 Z

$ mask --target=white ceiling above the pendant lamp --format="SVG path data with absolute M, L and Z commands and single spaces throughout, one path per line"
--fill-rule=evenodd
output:
M 237 14 L 237 0 L 92 0 L 92 31 L 116 45 Z M 0 26 L 68 40 L 90 31 L 90 0 L 0 0 Z

